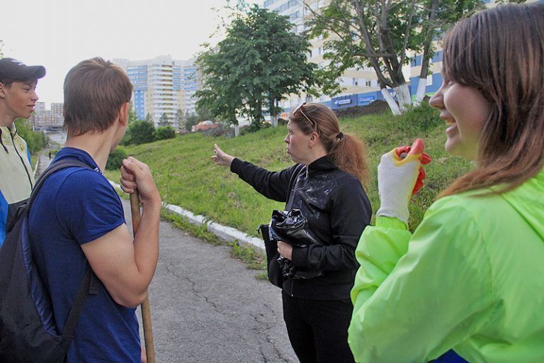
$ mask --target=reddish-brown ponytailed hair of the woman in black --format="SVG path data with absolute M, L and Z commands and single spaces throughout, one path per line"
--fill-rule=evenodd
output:
M 370 176 L 363 142 L 354 135 L 341 133 L 338 118 L 327 106 L 305 104 L 301 108 L 302 112 L 295 110 L 297 112 L 290 114 L 290 121 L 296 123 L 305 135 L 317 132 L 336 167 L 355 175 L 366 189 Z

